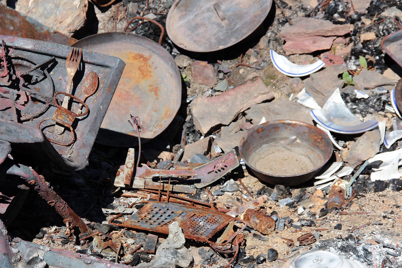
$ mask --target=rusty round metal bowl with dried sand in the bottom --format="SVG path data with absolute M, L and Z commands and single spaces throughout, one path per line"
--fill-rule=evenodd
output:
M 320 171 L 332 155 L 332 143 L 316 126 L 277 120 L 251 128 L 240 141 L 239 151 L 259 179 L 293 186 Z

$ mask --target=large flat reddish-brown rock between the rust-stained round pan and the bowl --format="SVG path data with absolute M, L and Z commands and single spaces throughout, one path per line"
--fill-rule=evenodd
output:
M 215 126 L 227 126 L 242 111 L 252 105 L 273 99 L 273 94 L 258 78 L 222 95 L 203 98 L 197 97 L 191 103 L 193 121 L 197 130 L 205 135 Z

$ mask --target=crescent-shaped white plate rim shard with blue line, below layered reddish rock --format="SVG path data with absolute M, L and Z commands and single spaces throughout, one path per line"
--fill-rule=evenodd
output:
M 300 77 L 317 72 L 325 63 L 322 60 L 317 60 L 312 64 L 299 65 L 289 61 L 285 56 L 279 55 L 273 50 L 270 50 L 271 60 L 277 70 L 287 76 Z

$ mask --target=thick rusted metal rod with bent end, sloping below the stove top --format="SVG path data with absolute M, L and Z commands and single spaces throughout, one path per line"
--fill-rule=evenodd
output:
M 44 177 L 36 173 L 32 168 L 25 165 L 13 165 L 7 170 L 7 174 L 20 176 L 21 179 L 25 179 L 29 185 L 34 186 L 35 190 L 46 200 L 47 204 L 53 206 L 57 213 L 59 213 L 63 219 L 68 220 L 73 227 L 78 227 L 81 233 L 93 233 L 76 212 L 68 206 L 66 201 L 49 188 Z

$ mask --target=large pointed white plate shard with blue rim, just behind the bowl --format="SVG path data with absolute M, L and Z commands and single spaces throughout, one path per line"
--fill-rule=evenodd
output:
M 366 132 L 378 126 L 377 120 L 362 122 L 348 109 L 339 88 L 326 101 L 322 109 L 310 111 L 314 121 L 322 127 L 342 134 L 357 134 Z

